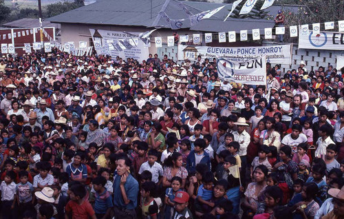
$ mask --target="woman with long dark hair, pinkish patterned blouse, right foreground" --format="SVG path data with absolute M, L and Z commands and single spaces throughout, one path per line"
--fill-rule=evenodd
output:
M 264 200 L 264 190 L 266 189 L 266 177 L 268 176 L 268 167 L 259 165 L 253 171 L 254 182 L 248 184 L 245 191 L 245 200 L 241 203 L 244 209 L 243 218 L 250 218 L 248 215 L 255 215 L 260 201 Z

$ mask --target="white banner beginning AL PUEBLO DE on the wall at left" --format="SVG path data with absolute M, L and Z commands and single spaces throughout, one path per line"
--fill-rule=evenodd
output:
M 91 33 L 92 40 L 94 41 L 94 48 L 97 52 L 97 54 L 100 54 L 102 52 L 102 45 L 106 44 L 107 40 L 113 40 L 114 41 L 114 48 L 115 50 L 109 51 L 109 54 L 112 57 L 120 56 L 122 59 L 127 58 L 133 58 L 137 59 L 138 61 L 142 62 L 142 60 L 146 60 L 147 56 L 149 54 L 149 48 L 145 47 L 144 41 L 147 42 L 149 45 L 149 34 L 153 32 L 154 30 L 151 30 L 149 32 L 130 32 L 130 33 L 124 33 L 120 31 L 110 31 L 110 30 L 94 30 L 89 29 L 89 32 Z M 132 36 L 132 34 L 136 36 Z M 101 38 L 99 37 L 101 36 Z M 119 40 L 123 39 L 131 39 L 132 37 L 139 37 L 142 40 L 137 40 L 136 42 L 138 45 L 136 47 L 132 47 L 131 49 L 122 50 L 120 48 L 121 43 L 118 43 Z M 98 43 L 97 43 L 98 42 Z M 127 45 L 125 41 L 123 41 Z M 131 44 L 131 43 L 129 43 Z M 92 49 L 90 49 L 90 52 L 92 52 Z

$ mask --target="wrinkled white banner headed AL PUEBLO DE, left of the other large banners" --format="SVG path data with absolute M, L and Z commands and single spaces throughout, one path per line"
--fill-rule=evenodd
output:
M 93 41 L 100 41 L 101 45 L 106 47 L 106 49 L 109 48 L 107 42 L 113 42 L 111 49 L 114 48 L 114 50 L 107 50 L 109 55 L 112 57 L 120 56 L 123 59 L 133 58 L 140 62 L 142 62 L 142 60 L 146 60 L 148 57 L 149 48 L 144 47 L 144 43 L 141 40 L 138 40 L 138 38 L 135 38 L 136 36 L 131 35 L 139 35 L 140 32 L 131 32 L 131 34 L 127 34 L 120 31 L 94 29 L 89 29 L 89 32 L 91 32 Z M 94 48 L 98 54 L 103 54 L 102 49 L 97 50 L 96 45 Z

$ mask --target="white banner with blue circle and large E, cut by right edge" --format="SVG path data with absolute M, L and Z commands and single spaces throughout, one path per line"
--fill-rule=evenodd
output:
M 314 50 L 344 50 L 343 33 L 320 32 L 314 34 L 310 31 L 308 35 L 299 35 L 300 49 Z

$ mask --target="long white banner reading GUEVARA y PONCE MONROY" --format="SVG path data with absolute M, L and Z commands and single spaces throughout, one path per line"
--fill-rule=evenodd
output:
M 180 44 L 178 45 L 178 60 L 195 61 L 200 55 L 202 59 L 207 58 L 209 60 L 221 57 L 232 61 L 247 61 L 266 55 L 266 60 L 270 63 L 290 65 L 291 48 L 291 44 L 254 47 L 211 47 Z

